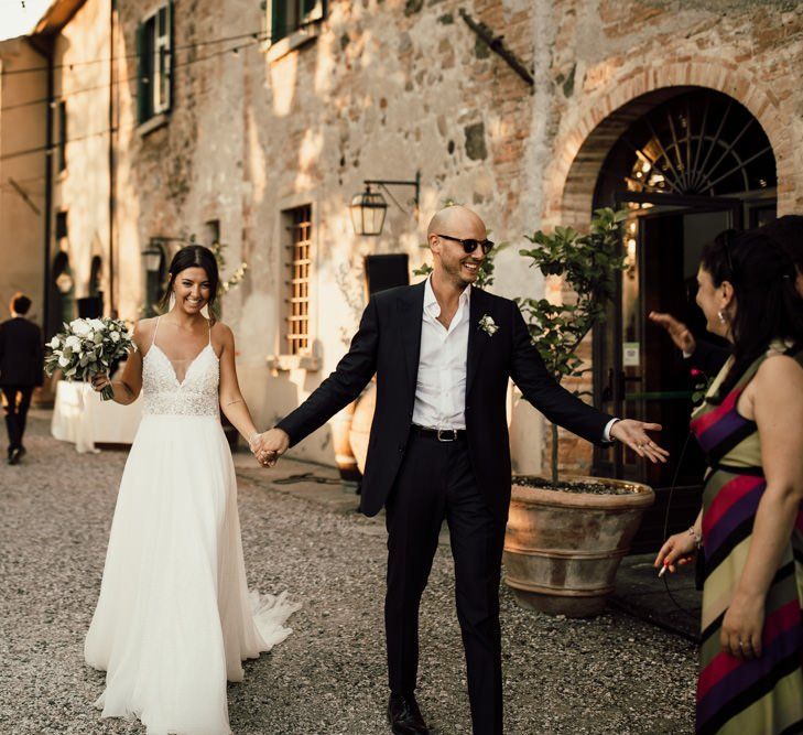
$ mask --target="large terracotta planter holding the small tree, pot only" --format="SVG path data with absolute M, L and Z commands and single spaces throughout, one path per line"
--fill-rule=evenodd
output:
M 522 607 L 588 617 L 605 609 L 619 563 L 655 494 L 639 483 L 573 479 L 629 493 L 562 493 L 514 482 L 504 536 L 504 582 Z

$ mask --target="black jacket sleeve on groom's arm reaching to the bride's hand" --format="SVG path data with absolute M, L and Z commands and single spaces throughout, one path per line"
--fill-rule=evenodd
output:
M 348 353 L 295 411 L 284 417 L 276 429 L 284 431 L 290 446 L 325 424 L 335 413 L 357 398 L 377 371 L 379 315 L 373 299 L 368 302 Z

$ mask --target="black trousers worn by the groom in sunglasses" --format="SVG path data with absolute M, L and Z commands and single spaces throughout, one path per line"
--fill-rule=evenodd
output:
M 475 735 L 502 732 L 499 580 L 504 523 L 480 496 L 466 442 L 412 434 L 387 508 L 388 592 L 384 624 L 390 689 L 410 694 L 419 667 L 419 605 L 449 527 L 457 618 L 463 633 Z

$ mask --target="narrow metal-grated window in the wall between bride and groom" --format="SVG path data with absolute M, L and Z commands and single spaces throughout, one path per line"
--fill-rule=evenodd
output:
M 312 207 L 296 207 L 286 213 L 291 224 L 287 246 L 286 345 L 289 355 L 310 352 L 310 266 L 312 249 Z

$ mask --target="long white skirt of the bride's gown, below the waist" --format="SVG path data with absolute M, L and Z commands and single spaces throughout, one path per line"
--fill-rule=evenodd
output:
M 297 605 L 249 593 L 237 482 L 214 417 L 145 415 L 111 525 L 85 644 L 96 705 L 148 735 L 229 735 L 226 681 L 284 640 Z

